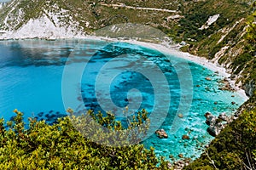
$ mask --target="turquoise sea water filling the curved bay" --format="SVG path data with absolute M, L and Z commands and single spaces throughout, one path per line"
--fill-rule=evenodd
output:
M 113 111 L 119 120 L 145 108 L 152 129 L 164 128 L 169 138 L 152 133 L 143 144 L 166 158 L 200 156 L 201 146 L 213 139 L 204 114 L 231 114 L 244 102 L 236 93 L 218 90 L 222 77 L 207 68 L 130 43 L 9 40 L 0 42 L 0 52 L 0 115 L 5 120 L 15 116 L 15 108 L 26 120 L 36 116 L 49 123 L 66 116 L 69 106 Z M 183 134 L 190 139 L 183 140 Z

